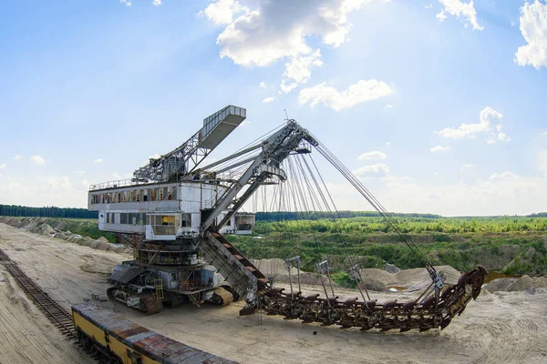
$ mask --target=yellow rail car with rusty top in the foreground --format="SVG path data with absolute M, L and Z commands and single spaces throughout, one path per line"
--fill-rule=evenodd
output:
M 72 306 L 77 337 L 84 348 L 109 364 L 236 364 L 169 339 L 94 303 Z

